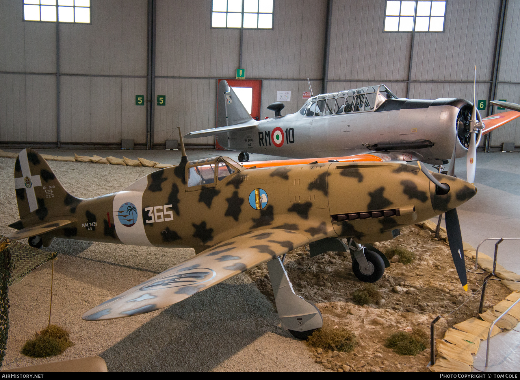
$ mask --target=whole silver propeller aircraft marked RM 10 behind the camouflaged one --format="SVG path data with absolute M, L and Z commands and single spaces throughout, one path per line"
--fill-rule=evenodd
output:
M 285 116 L 284 104 L 273 103 L 267 108 L 275 117 L 256 121 L 222 80 L 217 128 L 185 137 L 215 135 L 226 149 L 242 151 L 239 161 L 248 161 L 249 153 L 292 158 L 373 154 L 385 161 L 442 165 L 456 151 L 456 158 L 467 155 L 467 178 L 473 183 L 480 138 L 520 116 L 508 111 L 483 119 L 474 104 L 475 92 L 473 104 L 460 98 L 407 99 L 381 84 L 313 96 L 300 111 Z

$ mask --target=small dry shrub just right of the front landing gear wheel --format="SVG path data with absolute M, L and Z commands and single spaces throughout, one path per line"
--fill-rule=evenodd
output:
M 323 327 L 318 328 L 307 338 L 307 344 L 311 347 L 323 350 L 351 352 L 357 345 L 356 335 L 345 327 L 332 326 L 323 321 Z

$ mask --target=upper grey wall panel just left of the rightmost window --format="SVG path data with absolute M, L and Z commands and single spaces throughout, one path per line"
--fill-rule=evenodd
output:
M 329 80 L 407 80 L 410 33 L 383 33 L 385 2 L 333 2 Z

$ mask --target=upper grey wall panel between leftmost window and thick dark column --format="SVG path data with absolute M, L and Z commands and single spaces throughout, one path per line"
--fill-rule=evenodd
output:
M 92 24 L 60 24 L 60 71 L 146 75 L 147 2 L 93 0 Z

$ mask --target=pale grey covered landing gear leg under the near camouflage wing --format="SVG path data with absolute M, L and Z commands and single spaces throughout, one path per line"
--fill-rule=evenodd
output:
M 267 268 L 282 327 L 287 328 L 294 337 L 306 339 L 317 328 L 323 326 L 320 311 L 312 303 L 294 293 L 287 271 L 283 268 L 279 257 L 269 261 Z

